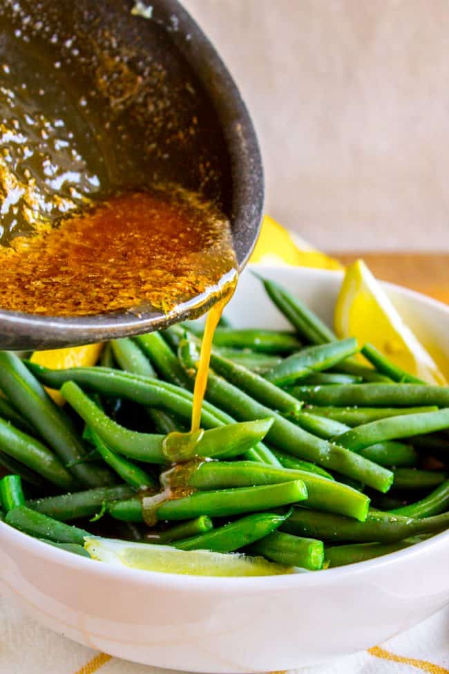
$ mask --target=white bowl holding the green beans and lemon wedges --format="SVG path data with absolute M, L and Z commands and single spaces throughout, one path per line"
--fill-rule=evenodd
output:
M 264 268 L 332 320 L 338 272 Z M 449 357 L 449 308 L 391 285 L 419 337 Z M 284 326 L 245 272 L 228 315 Z M 267 672 L 363 650 L 449 602 L 449 532 L 352 566 L 293 576 L 204 578 L 115 568 L 0 523 L 1 590 L 52 630 L 145 664 L 196 672 Z

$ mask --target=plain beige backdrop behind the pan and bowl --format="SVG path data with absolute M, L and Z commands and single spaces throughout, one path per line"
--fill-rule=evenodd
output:
M 258 129 L 267 212 L 327 250 L 449 250 L 449 0 L 184 0 Z

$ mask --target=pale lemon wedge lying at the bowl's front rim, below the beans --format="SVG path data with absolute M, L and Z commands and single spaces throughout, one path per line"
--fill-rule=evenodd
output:
M 144 571 L 178 573 L 191 576 L 276 576 L 293 573 L 262 557 L 245 554 L 177 550 L 169 545 L 129 543 L 116 539 L 86 538 L 84 547 L 93 559 Z

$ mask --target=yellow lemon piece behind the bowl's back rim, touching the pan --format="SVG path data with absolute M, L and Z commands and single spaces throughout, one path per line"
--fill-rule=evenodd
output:
M 310 247 L 295 234 L 289 234 L 282 225 L 268 215 L 263 218 L 260 236 L 250 262 L 343 269 L 339 262 Z

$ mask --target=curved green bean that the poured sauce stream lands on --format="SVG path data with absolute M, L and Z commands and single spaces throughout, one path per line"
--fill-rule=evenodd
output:
M 73 382 L 63 384 L 61 395 L 109 447 L 124 456 L 149 463 L 165 464 L 176 460 L 177 456 L 182 460 L 192 458 L 192 456 L 238 456 L 254 447 L 254 444 L 265 436 L 273 423 L 271 418 L 265 418 L 202 431 L 198 436 L 198 442 L 189 446 L 185 440 L 193 436 L 189 433 L 180 433 L 175 438 L 175 449 L 178 449 L 178 455 L 175 455 L 169 453 L 170 448 L 164 436 L 130 431 L 108 418 L 77 384 Z M 173 436 L 166 437 L 172 438 Z M 184 449 L 189 451 L 190 456 L 184 455 Z

